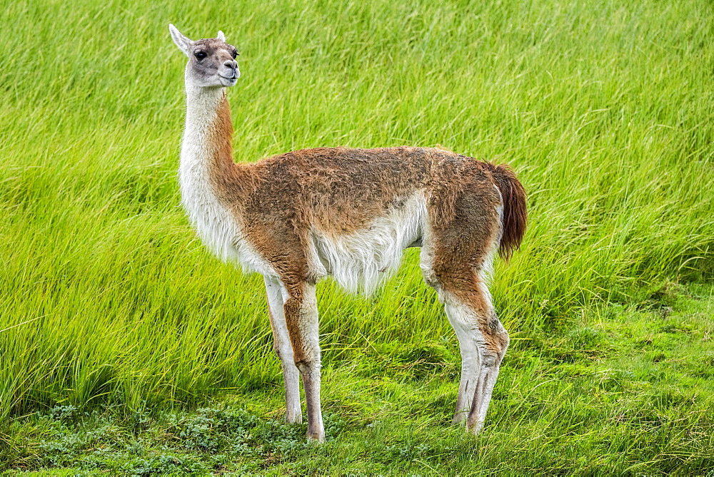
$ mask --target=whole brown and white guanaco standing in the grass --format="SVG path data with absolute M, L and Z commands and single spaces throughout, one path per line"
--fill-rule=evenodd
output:
M 459 339 L 462 375 L 454 421 L 478 432 L 508 333 L 486 277 L 496 251 L 508 259 L 526 230 L 526 194 L 516 175 L 436 148 L 315 148 L 251 164 L 233 162 L 225 86 L 239 76 L 236 51 L 218 38 L 191 41 L 171 26 L 186 66 L 181 198 L 203 242 L 266 283 L 288 422 L 322 441 L 315 285 L 332 275 L 373 292 L 402 251 L 421 247 L 421 269 Z

